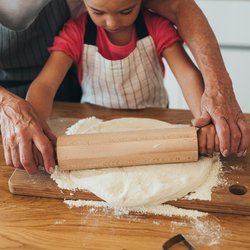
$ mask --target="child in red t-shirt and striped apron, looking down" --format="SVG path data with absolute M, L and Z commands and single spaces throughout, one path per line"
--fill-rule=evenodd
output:
M 116 109 L 167 107 L 165 58 L 194 115 L 200 115 L 203 81 L 168 20 L 141 10 L 142 0 L 84 0 L 87 13 L 70 20 L 27 100 L 46 120 L 65 74 L 77 64 L 82 102 Z M 213 125 L 200 129 L 201 154 L 218 150 Z

